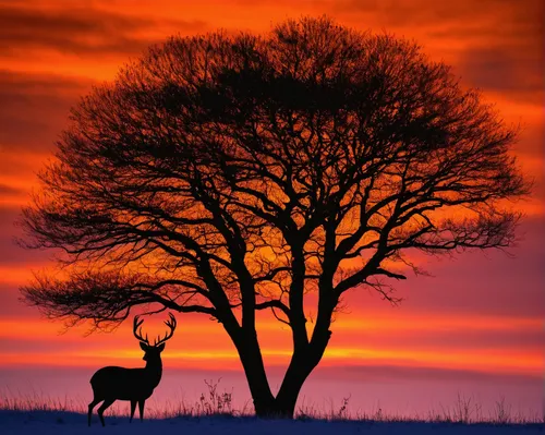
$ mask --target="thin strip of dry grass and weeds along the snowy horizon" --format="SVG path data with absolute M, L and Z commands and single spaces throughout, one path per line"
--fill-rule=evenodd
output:
M 196 416 L 251 416 L 253 409 L 245 403 L 241 409 L 233 408 L 232 391 L 220 391 L 219 379 L 217 382 L 205 380 L 207 390 L 201 394 L 198 400 L 187 401 L 180 399 L 167 401 L 160 407 L 154 406 L 150 400 L 146 407 L 146 416 L 150 419 L 170 418 L 196 418 Z M 0 392 L 0 410 L 8 411 L 61 411 L 86 413 L 87 403 L 82 400 L 73 400 L 68 397 L 63 399 L 52 398 L 44 394 L 34 392 L 26 396 L 13 395 L 10 391 Z M 128 408 L 113 406 L 108 410 L 110 415 L 128 415 Z M 420 423 L 456 423 L 456 424 L 545 424 L 545 415 L 535 413 L 529 415 L 520 410 L 513 412 L 512 406 L 505 398 L 498 399 L 488 413 L 483 412 L 481 403 L 472 397 L 458 395 L 450 407 L 439 406 L 425 415 L 414 414 L 411 416 L 388 414 L 379 404 L 371 411 L 350 411 L 350 397 L 343 398 L 337 406 L 329 402 L 327 409 L 314 403 L 302 403 L 295 412 L 298 420 L 327 420 L 327 421 L 364 421 L 364 422 L 420 422 Z

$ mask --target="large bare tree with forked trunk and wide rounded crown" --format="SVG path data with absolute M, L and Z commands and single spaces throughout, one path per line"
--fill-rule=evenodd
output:
M 130 311 L 203 313 L 234 343 L 257 415 L 292 416 L 342 294 L 427 254 L 505 249 L 529 192 L 516 131 L 415 45 L 302 19 L 265 37 L 174 37 L 73 109 L 26 243 L 65 278 L 22 288 L 95 327 Z M 307 325 L 310 292 L 317 313 Z M 305 306 L 306 304 L 306 306 Z M 291 328 L 276 397 L 256 312 Z

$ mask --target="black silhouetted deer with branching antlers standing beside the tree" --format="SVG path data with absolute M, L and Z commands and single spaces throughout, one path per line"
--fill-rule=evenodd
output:
M 152 396 L 155 387 L 159 385 L 162 375 L 161 352 L 165 349 L 165 342 L 172 337 L 177 326 L 174 316 L 169 313 L 170 319 L 165 324 L 170 329 L 164 338 L 155 339 L 154 345 L 142 336 L 142 324 L 138 316 L 134 317 L 133 334 L 140 340 L 140 347 L 145 352 L 143 360 L 146 361 L 144 368 L 125 368 L 108 366 L 99 368 L 90 378 L 90 386 L 93 387 L 93 401 L 89 403 L 88 425 L 90 426 L 90 416 L 93 409 L 100 403 L 98 408 L 98 416 L 100 423 L 105 426 L 104 412 L 111 407 L 116 400 L 130 400 L 131 401 L 131 422 L 134 416 L 136 403 L 140 409 L 140 420 L 144 419 L 144 404 L 146 399 Z M 140 328 L 140 329 L 138 329 Z

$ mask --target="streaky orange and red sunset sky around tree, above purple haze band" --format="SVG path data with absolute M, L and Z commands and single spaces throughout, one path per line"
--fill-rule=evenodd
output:
M 138 365 L 128 327 L 83 339 L 78 329 L 40 319 L 17 301 L 31 270 L 47 253 L 12 243 L 21 205 L 37 186 L 69 108 L 94 83 L 114 77 L 124 62 L 171 34 L 222 27 L 267 32 L 287 17 L 328 14 L 359 29 L 415 39 L 444 60 L 468 86 L 482 88 L 507 122 L 520 123 L 514 146 L 535 181 L 514 258 L 469 254 L 427 261 L 434 278 L 398 286 L 405 301 L 392 307 L 367 292 L 352 292 L 334 324 L 323 365 L 440 368 L 459 374 L 543 376 L 545 295 L 544 7 L 541 0 L 0 0 L 0 371 L 15 365 Z M 186 368 L 239 370 L 232 345 L 205 316 L 179 317 L 165 361 Z M 289 335 L 261 324 L 269 366 L 282 365 Z M 359 372 L 353 372 L 359 376 Z M 327 396 L 327 394 L 326 394 Z

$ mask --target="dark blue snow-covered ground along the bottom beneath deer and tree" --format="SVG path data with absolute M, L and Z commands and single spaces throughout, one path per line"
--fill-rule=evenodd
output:
M 101 427 L 94 415 L 93 426 L 87 427 L 86 415 L 57 411 L 0 411 L 0 434 L 77 435 L 533 435 L 544 434 L 543 424 L 491 425 L 407 422 L 326 422 L 258 420 L 254 418 L 175 418 L 145 420 L 129 423 L 125 416 L 107 416 Z

